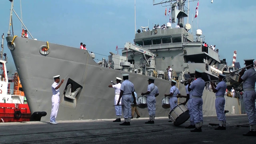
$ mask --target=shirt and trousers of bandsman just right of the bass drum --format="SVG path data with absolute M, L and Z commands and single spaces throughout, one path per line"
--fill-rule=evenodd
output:
M 192 89 L 192 111 L 196 127 L 201 127 L 203 124 L 203 91 L 205 82 L 202 78 L 197 78 L 189 86 Z M 190 92 L 191 92 L 190 91 Z M 200 123 L 200 124 L 199 124 Z M 198 125 L 199 124 L 199 125 Z

